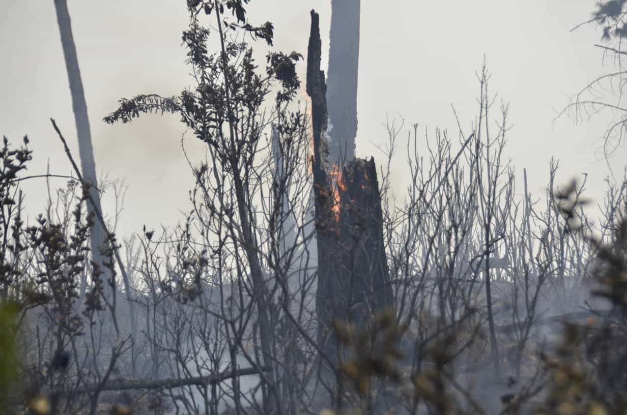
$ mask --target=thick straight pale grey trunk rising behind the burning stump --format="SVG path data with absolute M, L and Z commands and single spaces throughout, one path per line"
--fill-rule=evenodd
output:
M 329 70 L 329 162 L 342 165 L 355 157 L 357 73 L 361 0 L 331 1 Z

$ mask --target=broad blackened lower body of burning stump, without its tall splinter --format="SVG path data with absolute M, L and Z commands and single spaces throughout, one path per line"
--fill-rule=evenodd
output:
M 332 197 L 320 214 L 316 211 L 318 251 L 324 253 L 318 265 L 318 339 L 330 357 L 337 355 L 330 331 L 335 318 L 362 329 L 394 302 L 374 159 L 354 159 L 338 176 L 337 183 L 335 174 L 327 176 Z

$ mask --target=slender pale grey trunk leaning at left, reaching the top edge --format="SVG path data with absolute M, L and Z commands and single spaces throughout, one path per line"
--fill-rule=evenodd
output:
M 78 67 L 78 58 L 76 56 L 76 45 L 74 44 L 74 37 L 72 36 L 72 27 L 70 21 L 70 13 L 68 11 L 67 0 L 54 0 L 56 9 L 56 21 L 59 24 L 59 32 L 61 34 L 61 45 L 63 46 L 63 55 L 65 56 L 65 67 L 68 71 L 68 80 L 70 81 L 70 93 L 72 97 L 72 109 L 74 111 L 74 120 L 76 122 L 76 135 L 78 136 L 78 153 L 80 155 L 81 170 L 83 180 L 90 182 L 91 202 L 87 203 L 87 209 L 90 214 L 93 214 L 94 225 L 92 228 L 91 244 L 92 244 L 92 260 L 100 265 L 102 271 L 104 271 L 105 281 L 105 293 L 110 293 L 107 290 L 108 276 L 111 274 L 103 266 L 104 256 L 101 253 L 101 249 L 105 248 L 107 243 L 106 229 L 103 223 L 98 220 L 98 213 L 102 215 L 102 208 L 100 207 L 100 194 L 98 194 L 96 179 L 96 162 L 93 158 L 93 145 L 92 134 L 89 127 L 89 117 L 87 115 L 87 102 L 85 101 L 85 90 L 83 90 L 83 81 L 80 76 L 80 68 Z M 122 264 L 120 263 L 120 266 Z M 127 299 L 129 300 L 130 321 L 131 330 L 133 335 L 133 341 L 136 336 L 135 330 L 135 310 L 134 303 L 132 302 L 132 293 L 130 287 L 130 281 L 122 270 L 124 276 L 124 288 L 126 290 Z M 115 281 L 113 281 L 113 289 L 115 289 Z

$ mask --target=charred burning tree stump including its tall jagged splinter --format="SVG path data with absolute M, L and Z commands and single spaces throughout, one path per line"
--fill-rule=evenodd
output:
M 338 356 L 335 318 L 364 327 L 392 307 L 382 231 L 381 196 L 374 159 L 352 159 L 341 169 L 327 164 L 327 87 L 321 56 L 319 16 L 312 10 L 307 56 L 307 94 L 314 129 L 315 227 L 318 246 L 317 340 L 330 359 Z

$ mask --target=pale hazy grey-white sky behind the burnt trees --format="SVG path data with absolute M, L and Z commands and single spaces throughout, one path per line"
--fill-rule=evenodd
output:
M 456 132 L 455 106 L 470 132 L 479 92 L 476 71 L 485 55 L 492 73 L 490 91 L 510 103 L 505 157 L 540 196 L 552 155 L 561 159 L 559 179 L 589 174 L 590 196 L 603 194 L 608 174 L 598 161 L 595 140 L 607 117 L 575 126 L 568 118 L 551 123 L 567 97 L 604 70 L 599 33 L 584 26 L 594 0 L 362 1 L 357 155 L 382 160 L 376 145 L 386 142 L 386 114 L 402 115 L 406 127 Z M 192 175 L 181 150 L 182 124 L 176 115 L 145 116 L 130 125 L 105 125 L 102 117 L 121 97 L 137 93 L 171 95 L 191 82 L 184 65 L 181 31 L 186 28 L 184 0 L 68 1 L 78 50 L 98 171 L 125 178 L 129 192 L 119 233 L 174 224 L 188 209 Z M 320 13 L 328 43 L 330 0 L 252 0 L 253 23 L 275 24 L 275 47 L 306 55 L 309 11 Z M 70 164 L 51 128 L 56 119 L 76 149 L 74 118 L 52 0 L 3 0 L 0 13 L 0 134 L 19 144 L 28 134 L 34 149 L 30 174 L 69 174 Z M 260 46 L 261 43 L 259 43 Z M 328 49 L 327 46 L 323 46 Z M 324 57 L 323 57 L 324 60 Z M 323 66 L 326 62 L 323 61 Z M 300 73 L 304 73 L 304 63 Z M 202 147 L 186 135 L 186 148 Z M 402 148 L 401 148 L 402 150 Z M 613 167 L 624 167 L 624 147 Z M 403 160 L 403 154 L 399 155 Z M 394 191 L 401 193 L 407 172 L 394 165 Z M 53 182 L 63 186 L 62 179 Z M 43 211 L 45 181 L 25 186 L 29 212 Z M 519 187 L 522 192 L 522 187 Z M 111 194 L 104 203 L 112 213 Z

